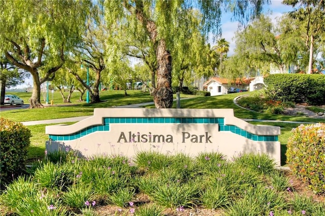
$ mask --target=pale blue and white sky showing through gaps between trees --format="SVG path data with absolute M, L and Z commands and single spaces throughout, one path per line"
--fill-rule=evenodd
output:
M 271 5 L 264 6 L 264 13 L 269 14 L 269 16 L 272 18 L 272 20 L 275 22 L 276 17 L 282 16 L 283 13 L 292 11 L 293 8 L 282 5 L 282 0 L 271 0 Z M 271 14 L 270 14 L 271 13 Z M 229 52 L 228 56 L 232 56 L 234 54 L 234 49 L 235 49 L 235 41 L 234 41 L 234 36 L 235 32 L 238 29 L 238 22 L 231 22 L 231 14 L 222 14 L 221 17 L 221 28 L 222 28 L 222 37 L 226 41 L 230 43 L 229 46 Z M 212 46 L 215 45 L 215 42 L 210 40 L 209 42 Z M 26 88 L 27 86 L 32 85 L 32 78 L 30 76 L 29 79 L 25 80 L 25 83 L 14 87 L 15 89 L 19 88 Z

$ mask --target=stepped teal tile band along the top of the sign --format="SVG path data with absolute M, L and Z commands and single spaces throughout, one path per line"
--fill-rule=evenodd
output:
M 64 140 L 73 140 L 78 139 L 87 134 L 96 132 L 96 131 L 109 131 L 110 123 L 122 124 L 122 123 L 195 123 L 195 124 L 218 124 L 219 131 L 230 131 L 232 133 L 238 134 L 245 138 L 254 140 L 254 141 L 278 141 L 278 136 L 267 136 L 267 135 L 256 135 L 252 134 L 242 128 L 239 128 L 235 125 L 225 125 L 224 118 L 104 118 L 103 125 L 92 125 L 76 133 L 69 135 L 49 135 L 51 140 L 64 141 Z

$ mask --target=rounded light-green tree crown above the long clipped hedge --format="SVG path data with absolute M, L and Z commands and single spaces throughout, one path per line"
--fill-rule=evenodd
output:
M 286 32 L 287 27 L 295 26 L 276 28 L 269 17 L 260 16 L 245 29 L 236 32 L 235 52 L 241 64 L 258 69 L 261 74 L 269 73 L 270 64 L 273 64 L 280 73 L 284 73 L 285 65 L 297 59 L 302 42 L 299 37 L 294 37 L 297 36 L 294 32 Z

